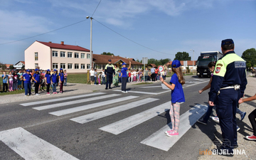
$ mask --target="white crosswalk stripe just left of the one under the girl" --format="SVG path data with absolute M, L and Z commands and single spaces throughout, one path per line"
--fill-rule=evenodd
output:
M 102 131 L 110 132 L 112 134 L 117 135 L 117 134 L 120 134 L 128 129 L 131 129 L 132 127 L 137 126 L 138 124 L 146 122 L 147 120 L 157 116 L 158 114 L 166 112 L 166 110 L 169 110 L 170 106 L 171 106 L 171 102 L 166 102 L 157 107 L 151 108 L 144 112 L 140 112 L 139 114 L 134 114 L 131 117 L 127 117 L 118 122 L 114 122 L 105 127 L 101 127 L 100 129 Z

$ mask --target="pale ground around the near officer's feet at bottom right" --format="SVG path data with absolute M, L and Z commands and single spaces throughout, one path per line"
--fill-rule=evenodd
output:
M 256 86 L 256 78 L 255 77 L 250 77 L 247 76 L 247 81 L 248 84 L 246 86 L 245 90 L 245 97 L 251 97 L 255 95 L 255 86 Z M 250 136 L 252 134 L 252 126 L 250 124 L 250 121 L 248 119 L 248 115 L 252 110 L 255 110 L 256 107 L 256 100 L 251 101 L 251 102 L 244 102 L 240 105 L 239 109 L 242 112 L 246 112 L 245 119 L 237 121 L 238 126 L 240 127 L 240 130 L 238 131 L 238 148 L 237 149 L 245 149 L 245 154 L 238 154 L 234 155 L 233 157 L 226 157 L 226 156 L 218 156 L 218 155 L 203 155 L 203 156 L 198 156 L 198 160 L 217 160 L 217 159 L 223 159 L 223 160 L 228 160 L 228 159 L 233 159 L 233 160 L 244 160 L 244 159 L 256 159 L 256 142 L 255 141 L 248 141 L 245 139 L 246 136 Z M 237 114 L 237 118 L 240 119 L 240 115 Z M 220 127 L 216 128 L 217 132 L 215 132 L 215 139 L 214 140 L 219 140 L 221 139 L 221 130 Z M 214 141 L 213 140 L 213 141 Z M 216 146 L 213 144 L 209 150 L 215 149 Z M 199 151 L 198 151 L 199 153 Z

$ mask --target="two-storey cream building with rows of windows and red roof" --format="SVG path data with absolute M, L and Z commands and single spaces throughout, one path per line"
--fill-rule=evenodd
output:
M 90 50 L 80 46 L 35 41 L 25 50 L 25 68 L 57 69 L 67 73 L 87 73 L 90 69 Z

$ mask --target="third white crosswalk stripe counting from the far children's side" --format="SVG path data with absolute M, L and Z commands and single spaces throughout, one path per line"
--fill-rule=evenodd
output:
M 121 97 L 121 98 L 117 98 L 117 99 L 114 99 L 114 100 L 106 100 L 106 101 L 103 101 L 103 102 L 97 102 L 97 103 L 90 104 L 90 105 L 83 105 L 83 106 L 80 106 L 80 107 L 69 108 L 69 109 L 66 109 L 66 110 L 59 110 L 59 111 L 55 111 L 55 112 L 49 112 L 49 114 L 53 114 L 55 116 L 61 116 L 61 115 L 65 115 L 65 114 L 70 114 L 70 113 L 74 113 L 74 112 L 88 110 L 88 109 L 91 109 L 91 108 L 100 107 L 102 105 L 110 105 L 110 104 L 113 104 L 113 103 L 116 103 L 116 102 L 131 100 L 131 99 L 137 98 L 137 97 L 139 97 L 139 96 L 130 95 L 128 97 Z

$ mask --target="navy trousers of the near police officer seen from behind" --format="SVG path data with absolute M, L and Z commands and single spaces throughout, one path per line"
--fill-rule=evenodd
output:
M 221 149 L 228 149 L 232 152 L 234 146 L 238 145 L 238 132 L 235 119 L 238 100 L 240 98 L 240 90 L 233 88 L 220 90 L 217 96 L 216 112 L 220 119 L 220 129 L 223 137 L 223 146 Z

